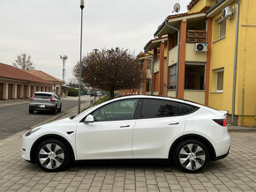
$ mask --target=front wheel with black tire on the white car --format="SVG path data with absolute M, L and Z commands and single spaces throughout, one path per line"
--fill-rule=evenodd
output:
M 36 163 L 42 170 L 58 172 L 64 170 L 70 162 L 71 151 L 62 141 L 46 139 L 42 141 L 34 153 Z

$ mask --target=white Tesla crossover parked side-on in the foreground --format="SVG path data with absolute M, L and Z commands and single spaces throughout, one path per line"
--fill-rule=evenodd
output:
M 26 132 L 22 158 L 46 171 L 71 160 L 170 159 L 197 173 L 229 153 L 226 114 L 186 100 L 120 97 Z

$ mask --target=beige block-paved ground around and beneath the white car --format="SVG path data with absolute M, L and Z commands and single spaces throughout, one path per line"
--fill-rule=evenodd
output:
M 256 190 L 255 132 L 231 132 L 230 155 L 200 174 L 184 174 L 165 160 L 82 161 L 64 172 L 45 173 L 20 158 L 21 135 L 0 140 L 0 191 Z

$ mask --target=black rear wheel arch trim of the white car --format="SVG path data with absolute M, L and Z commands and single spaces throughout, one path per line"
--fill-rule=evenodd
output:
M 210 153 L 210 157 L 209 157 L 210 160 L 215 160 L 216 152 L 215 152 L 215 148 L 214 148 L 213 144 L 211 144 L 211 142 L 209 142 L 209 140 L 206 137 L 202 137 L 197 134 L 187 134 L 182 137 L 178 137 L 175 140 L 175 142 L 173 142 L 173 144 L 171 144 L 171 146 L 169 148 L 169 159 L 172 159 L 172 157 L 174 155 L 173 153 L 175 151 L 177 144 L 179 144 L 180 142 L 182 142 L 184 140 L 188 140 L 188 139 L 196 139 L 196 140 L 202 142 L 203 144 L 206 144 L 207 149 L 209 150 L 209 153 Z

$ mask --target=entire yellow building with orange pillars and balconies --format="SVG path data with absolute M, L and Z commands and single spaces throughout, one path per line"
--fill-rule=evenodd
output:
M 153 54 L 140 57 L 152 61 L 151 94 L 228 110 L 229 123 L 254 127 L 256 0 L 192 0 L 187 8 L 164 19 L 144 48 Z

